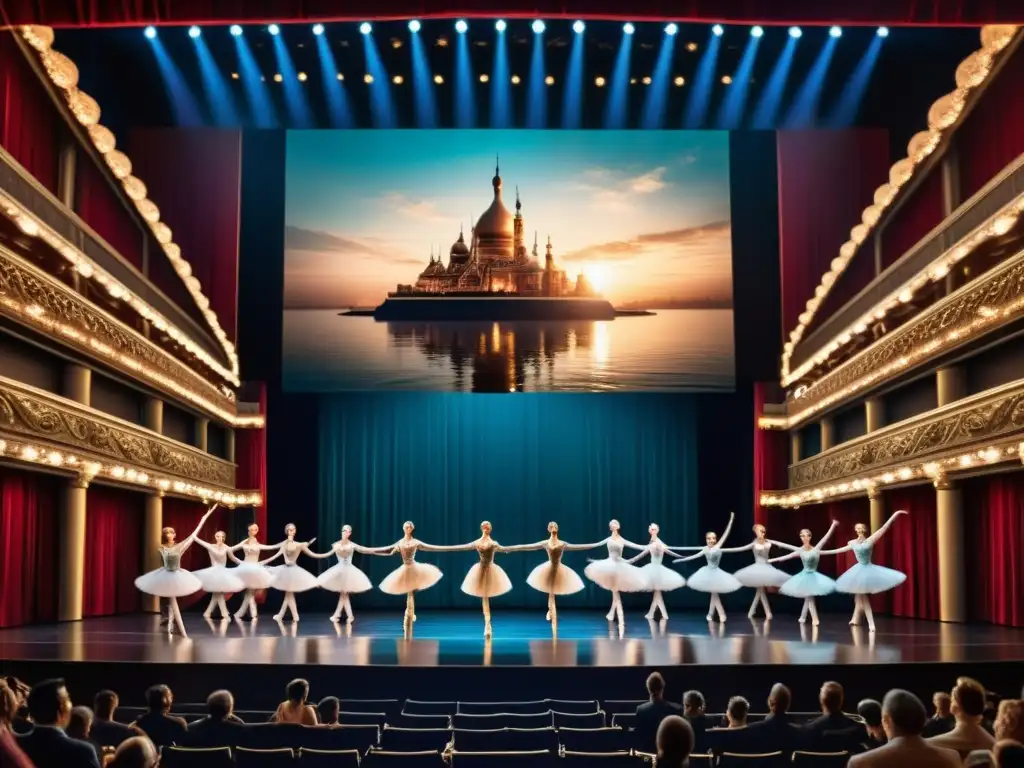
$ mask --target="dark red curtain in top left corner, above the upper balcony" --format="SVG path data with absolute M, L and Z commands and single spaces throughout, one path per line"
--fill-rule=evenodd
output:
M 14 38 L 0 33 L 0 145 L 54 194 L 58 120 L 46 89 Z

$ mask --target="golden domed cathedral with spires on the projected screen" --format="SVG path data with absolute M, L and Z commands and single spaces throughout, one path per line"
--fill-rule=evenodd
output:
M 569 280 L 564 269 L 555 264 L 551 238 L 545 249 L 544 263 L 534 234 L 534 249 L 526 250 L 525 220 L 519 190 L 515 196 L 513 216 L 502 201 L 500 165 L 495 165 L 490 180 L 495 197 L 490 206 L 476 220 L 466 244 L 460 229 L 459 239 L 449 251 L 445 265 L 440 253 L 430 254 L 430 261 L 413 285 L 399 285 L 391 296 L 451 296 L 459 294 L 500 294 L 544 297 L 593 297 L 587 276 L 581 272 Z

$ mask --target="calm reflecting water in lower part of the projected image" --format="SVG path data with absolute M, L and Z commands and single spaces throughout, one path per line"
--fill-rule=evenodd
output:
M 613 321 L 378 323 L 285 311 L 285 389 L 729 391 L 732 310 Z

